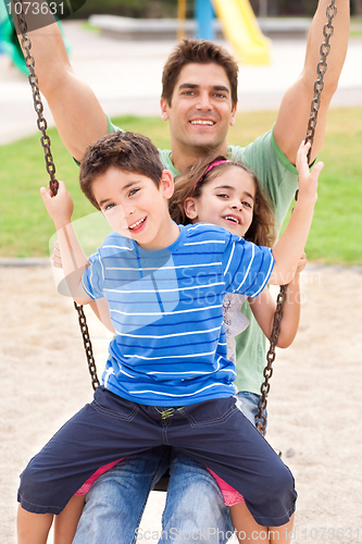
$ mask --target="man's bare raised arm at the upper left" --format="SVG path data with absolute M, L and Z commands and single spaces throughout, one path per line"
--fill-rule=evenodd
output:
M 39 22 L 39 17 L 43 17 L 40 28 L 38 26 L 42 22 Z M 14 21 L 17 24 L 16 16 Z M 41 13 L 34 15 L 29 7 L 26 21 L 30 30 L 38 28 L 28 32 L 28 36 L 40 90 L 65 147 L 80 161 L 87 146 L 107 134 L 105 114 L 89 85 L 74 73 L 53 16 Z

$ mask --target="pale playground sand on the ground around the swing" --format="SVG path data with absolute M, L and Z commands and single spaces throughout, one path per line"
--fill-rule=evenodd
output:
M 76 312 L 55 293 L 50 267 L 1 267 L 0 290 L 0 543 L 14 544 L 18 474 L 91 399 L 91 387 Z M 275 362 L 267 438 L 296 478 L 295 542 L 357 543 L 362 273 L 309 265 L 302 297 L 298 336 Z M 88 321 L 100 372 L 109 335 L 91 314 Z M 141 524 L 143 534 L 152 531 L 147 542 L 158 542 L 164 499 L 152 492 Z

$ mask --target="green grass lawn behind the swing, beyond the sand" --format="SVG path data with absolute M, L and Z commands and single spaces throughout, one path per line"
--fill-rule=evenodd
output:
M 252 141 L 274 123 L 276 112 L 240 113 L 229 132 L 229 143 Z M 158 147 L 170 147 L 167 125 L 158 118 L 123 116 L 113 120 L 124 129 L 149 136 Z M 57 176 L 67 184 L 74 202 L 74 219 L 95 210 L 78 188 L 78 169 L 55 129 L 50 129 Z M 310 260 L 325 263 L 362 264 L 362 108 L 332 109 L 320 159 L 319 201 L 307 246 Z M 0 147 L 0 256 L 41 257 L 49 255 L 54 233 L 39 196 L 47 185 L 39 136 Z M 89 231 L 89 225 L 83 225 Z M 98 230 L 98 227 L 97 227 Z M 92 233 L 89 237 L 93 240 Z M 95 240 L 93 240 L 95 242 Z M 98 243 L 98 240 L 97 240 Z

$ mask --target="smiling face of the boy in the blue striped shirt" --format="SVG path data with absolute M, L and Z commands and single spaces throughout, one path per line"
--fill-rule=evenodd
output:
M 110 168 L 93 181 L 91 189 L 105 219 L 118 234 L 148 249 L 167 247 L 175 240 L 176 225 L 168 213 L 174 184 L 168 171 L 163 171 L 157 187 L 150 177 Z

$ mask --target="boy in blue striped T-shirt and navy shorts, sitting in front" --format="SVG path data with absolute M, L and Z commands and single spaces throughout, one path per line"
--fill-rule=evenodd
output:
M 21 544 L 45 543 L 52 515 L 100 466 L 162 444 L 183 449 L 233 484 L 260 524 L 288 523 L 297 496 L 294 480 L 233 396 L 222 299 L 226 290 L 257 296 L 267 281 L 291 280 L 322 168 L 309 174 L 308 149 L 302 145 L 299 151 L 298 202 L 273 251 L 214 225 L 173 223 L 172 174 L 140 135 L 108 135 L 84 157 L 82 189 L 116 227 L 89 262 L 68 226 L 73 201 L 64 184 L 54 198 L 41 189 L 73 297 L 79 304 L 105 297 L 116 335 L 93 403 L 22 474 Z M 192 305 L 185 296 L 191 289 Z

